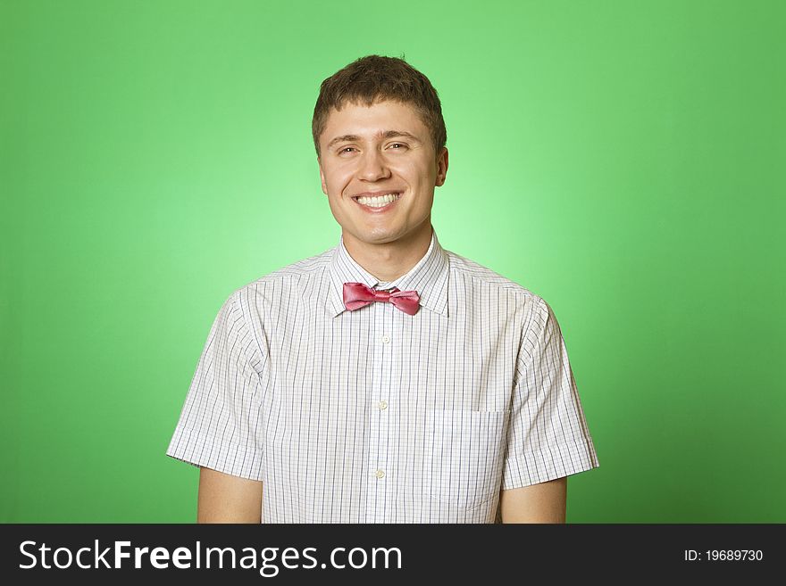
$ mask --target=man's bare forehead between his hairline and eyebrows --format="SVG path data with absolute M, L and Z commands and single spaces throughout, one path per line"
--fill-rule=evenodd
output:
M 321 138 L 327 142 L 340 135 L 372 138 L 391 129 L 406 130 L 420 137 L 428 133 L 414 106 L 386 100 L 371 106 L 345 103 L 341 110 L 331 109 Z

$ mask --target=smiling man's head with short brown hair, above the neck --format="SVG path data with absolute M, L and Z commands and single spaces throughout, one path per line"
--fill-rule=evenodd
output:
M 322 82 L 312 131 L 322 191 L 347 249 L 431 239 L 447 133 L 428 78 L 401 59 L 358 59 Z M 389 193 L 394 202 L 374 197 Z

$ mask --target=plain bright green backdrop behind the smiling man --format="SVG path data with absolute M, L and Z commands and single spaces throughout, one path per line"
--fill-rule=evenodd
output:
M 440 243 L 562 326 L 568 522 L 786 522 L 786 4 L 0 6 L 0 521 L 195 519 L 164 451 L 208 330 L 338 243 L 314 103 L 386 54 L 443 102 Z

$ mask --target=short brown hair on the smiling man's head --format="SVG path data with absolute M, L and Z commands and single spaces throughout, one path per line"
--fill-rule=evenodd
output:
M 447 143 L 447 130 L 439 95 L 429 78 L 404 59 L 366 55 L 322 81 L 311 122 L 316 156 L 321 156 L 319 139 L 331 109 L 340 111 L 347 103 L 371 107 L 384 100 L 413 106 L 431 132 L 434 153 L 441 152 Z

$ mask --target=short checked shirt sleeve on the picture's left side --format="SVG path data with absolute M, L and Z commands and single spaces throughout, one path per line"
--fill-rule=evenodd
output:
M 213 321 L 167 456 L 229 475 L 262 480 L 260 347 L 239 290 Z

